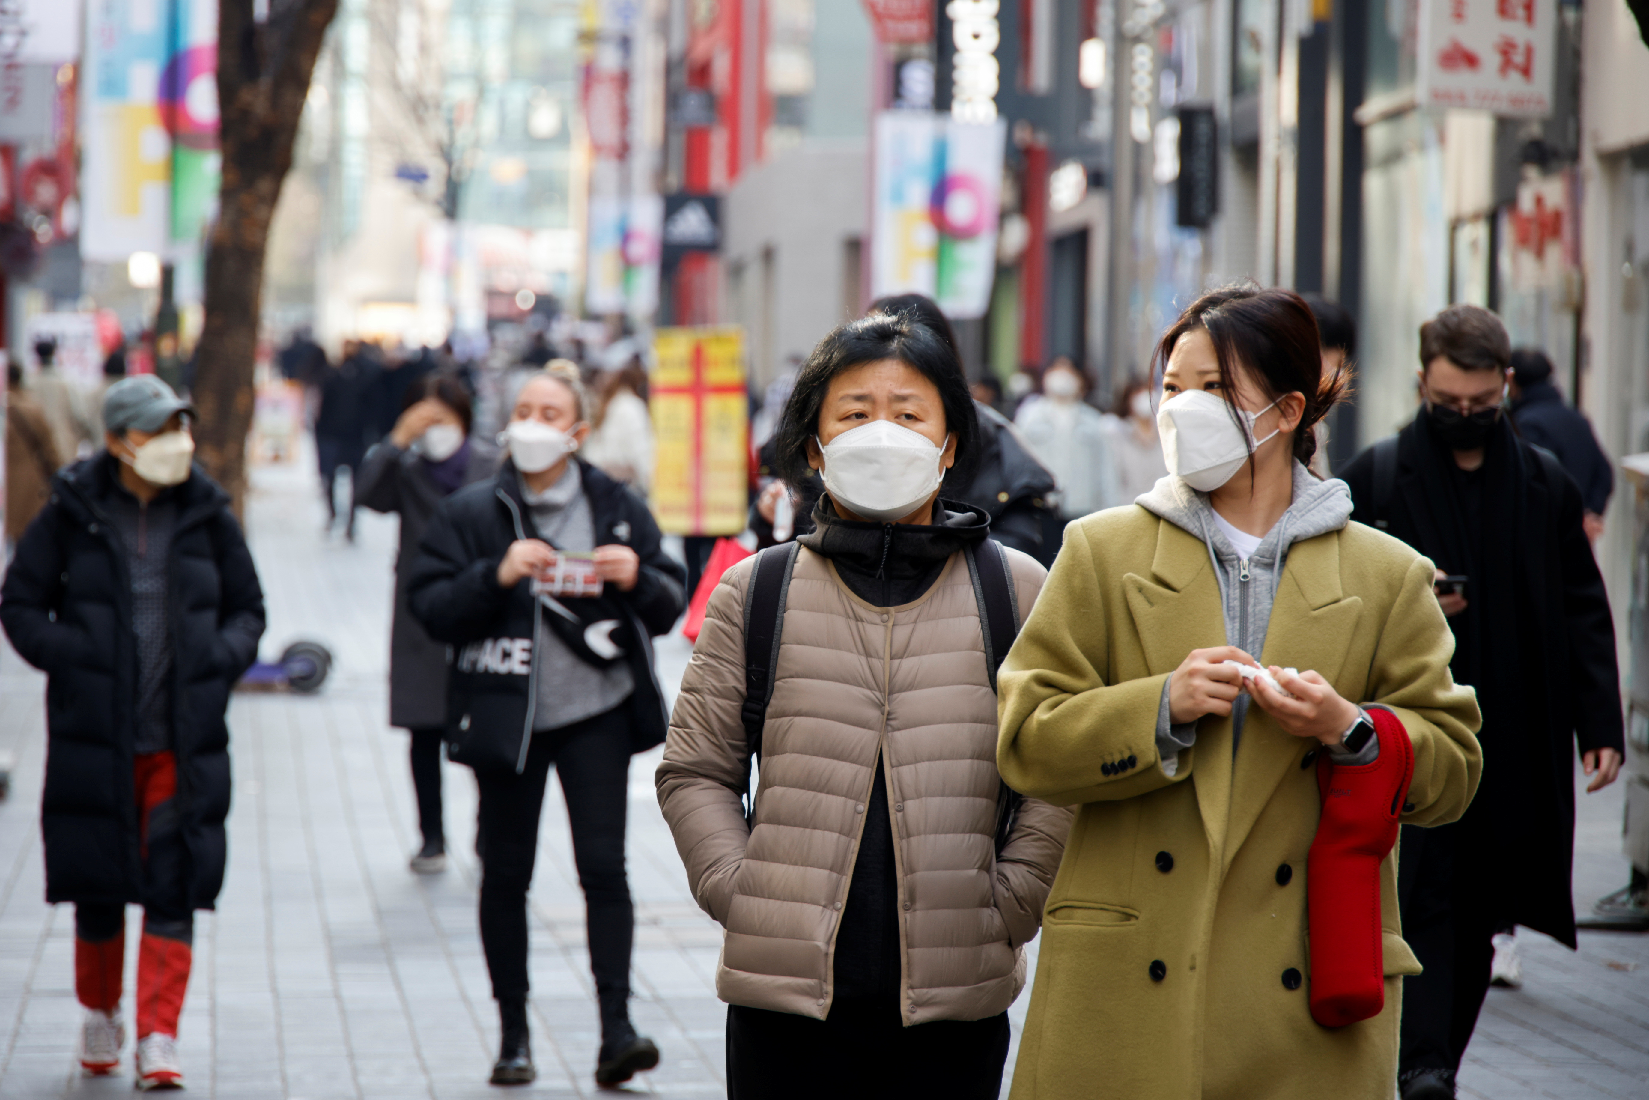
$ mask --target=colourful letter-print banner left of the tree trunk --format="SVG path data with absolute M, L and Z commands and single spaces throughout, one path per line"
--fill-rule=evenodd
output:
M 125 262 L 200 241 L 218 201 L 218 5 L 91 0 L 81 256 Z

